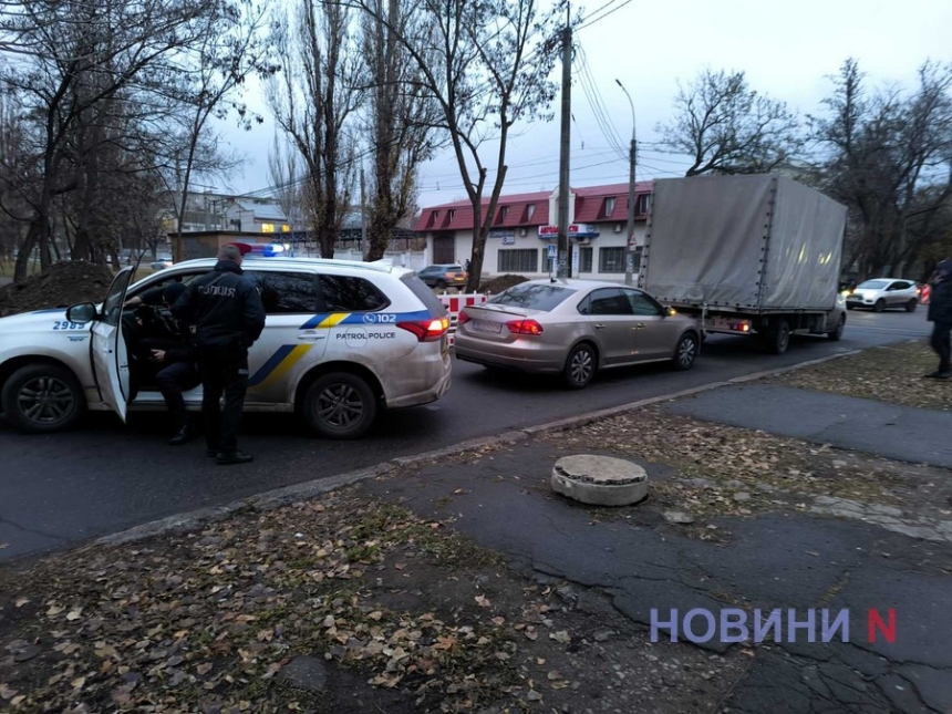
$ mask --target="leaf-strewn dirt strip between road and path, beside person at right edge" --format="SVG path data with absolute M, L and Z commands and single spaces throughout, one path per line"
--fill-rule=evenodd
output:
M 952 381 L 923 379 L 937 364 L 928 341 L 917 340 L 863 350 L 766 382 L 948 412 Z

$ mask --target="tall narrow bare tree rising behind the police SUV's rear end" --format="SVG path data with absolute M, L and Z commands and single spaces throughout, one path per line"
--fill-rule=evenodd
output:
M 421 72 L 401 38 L 418 45 L 427 24 L 413 13 L 411 0 L 368 0 L 372 13 L 362 21 L 363 54 L 369 69 L 368 130 L 370 249 L 379 260 L 400 223 L 416 204 L 420 165 L 433 156 L 439 106 L 421 82 Z

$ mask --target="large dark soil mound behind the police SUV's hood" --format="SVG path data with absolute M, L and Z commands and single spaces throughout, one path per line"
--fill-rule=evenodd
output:
M 82 260 L 55 262 L 23 282 L 0 288 L 0 317 L 76 302 L 101 302 L 113 277 L 105 266 Z

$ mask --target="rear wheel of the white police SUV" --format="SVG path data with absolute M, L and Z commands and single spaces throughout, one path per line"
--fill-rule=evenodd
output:
M 376 397 L 360 376 L 331 372 L 318 377 L 308 390 L 304 415 L 321 436 L 356 438 L 376 418 Z

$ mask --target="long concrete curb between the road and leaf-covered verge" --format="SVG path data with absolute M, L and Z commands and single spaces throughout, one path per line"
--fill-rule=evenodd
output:
M 526 441 L 534 436 L 538 436 L 539 434 L 560 432 L 567 428 L 586 426 L 588 424 L 591 424 L 592 422 L 599 422 L 613 416 L 619 416 L 621 414 L 627 414 L 628 412 L 633 412 L 645 406 L 651 406 L 652 404 L 658 404 L 659 402 L 671 402 L 674 400 L 684 399 L 686 396 L 694 396 L 695 394 L 701 394 L 711 390 L 716 390 L 722 386 L 731 386 L 733 384 L 743 384 L 744 382 L 753 382 L 755 380 L 763 380 L 769 376 L 777 376 L 786 372 L 793 372 L 795 370 L 815 366 L 817 364 L 822 364 L 824 362 L 830 362 L 840 358 L 850 356 L 859 352 L 862 352 L 862 350 L 850 350 L 848 352 L 830 354 L 824 358 L 819 358 L 817 360 L 810 360 L 808 362 L 799 362 L 797 364 L 778 368 L 776 370 L 766 370 L 763 372 L 755 372 L 754 374 L 735 376 L 724 382 L 712 382 L 710 384 L 702 384 L 701 386 L 694 386 L 687 390 L 682 390 L 680 392 L 672 392 L 670 394 L 662 394 L 660 396 L 651 396 L 644 400 L 639 400 L 638 402 L 630 402 L 628 404 L 621 404 L 620 406 L 612 406 L 604 410 L 598 410 L 596 412 L 588 412 L 586 414 L 579 414 L 578 416 L 570 416 L 567 418 L 557 420 L 555 422 L 548 422 L 546 424 L 538 424 L 535 426 L 527 426 L 520 430 L 503 432 L 494 436 L 472 438 L 465 442 L 459 442 L 458 444 L 453 444 L 451 446 L 444 446 L 434 451 L 414 454 L 413 456 L 397 456 L 387 462 L 383 462 L 381 464 L 368 468 L 360 468 L 356 470 L 346 472 L 344 474 L 330 476 L 328 478 L 313 479 L 304 482 L 302 484 L 294 484 L 293 486 L 286 486 L 284 488 L 277 488 L 275 490 L 258 494 L 257 496 L 250 496 L 241 500 L 231 501 L 230 504 L 225 504 L 224 506 L 201 508 L 184 514 L 177 514 L 175 516 L 168 516 L 167 518 L 161 518 L 158 520 L 153 520 L 151 522 L 135 526 L 133 528 L 128 528 L 116 534 L 103 536 L 101 538 L 95 539 L 93 544 L 118 546 L 136 540 L 143 540 L 145 538 L 151 538 L 153 536 L 194 530 L 195 528 L 199 528 L 205 524 L 225 520 L 226 518 L 229 518 L 240 511 L 270 510 L 272 508 L 293 504 L 299 500 L 314 498 L 322 494 L 337 490 L 338 488 L 343 488 L 344 486 L 356 484 L 368 478 L 376 478 L 377 476 L 383 476 L 384 474 L 389 474 L 390 472 L 396 470 L 399 468 L 416 466 L 418 464 L 446 458 L 447 456 L 456 456 L 457 454 L 461 454 L 463 452 L 475 451 L 477 448 L 483 448 L 486 446 L 514 444 L 517 442 Z

